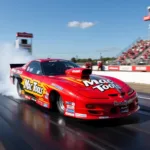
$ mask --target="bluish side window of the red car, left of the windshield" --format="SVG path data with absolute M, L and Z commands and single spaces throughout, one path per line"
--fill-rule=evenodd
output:
M 27 71 L 33 74 L 42 75 L 42 70 L 39 62 L 31 62 L 27 67 Z

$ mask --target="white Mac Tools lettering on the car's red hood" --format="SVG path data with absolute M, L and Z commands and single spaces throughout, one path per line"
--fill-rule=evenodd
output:
M 98 89 L 101 92 L 104 92 L 106 90 L 112 89 L 112 88 L 116 88 L 116 89 L 121 89 L 120 86 L 116 85 L 113 81 L 109 80 L 109 79 L 100 79 L 100 80 L 84 80 L 83 81 L 84 85 L 86 87 L 89 86 L 93 86 L 93 89 Z

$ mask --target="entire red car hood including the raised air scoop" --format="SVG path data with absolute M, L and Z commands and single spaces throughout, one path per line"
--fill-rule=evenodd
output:
M 59 77 L 59 82 L 63 81 L 70 85 L 70 87 L 74 87 L 78 95 L 95 99 L 108 99 L 110 96 L 118 95 L 123 96 L 129 90 L 129 87 L 122 81 L 118 82 L 109 77 L 92 75 L 90 70 L 83 70 L 69 69 L 69 73 L 66 76 Z M 82 72 L 84 72 L 84 76 Z

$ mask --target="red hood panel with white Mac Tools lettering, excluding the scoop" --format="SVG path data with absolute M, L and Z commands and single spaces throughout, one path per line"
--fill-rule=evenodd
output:
M 84 88 L 79 94 L 87 98 L 108 99 L 109 97 L 124 96 L 125 88 L 102 76 L 90 76 L 90 80 L 83 80 Z

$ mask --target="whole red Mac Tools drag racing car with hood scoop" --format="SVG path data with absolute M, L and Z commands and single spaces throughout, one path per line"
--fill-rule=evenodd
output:
M 136 91 L 123 81 L 92 74 L 63 59 L 10 64 L 10 79 L 19 97 L 60 114 L 80 119 L 129 116 L 139 110 Z

